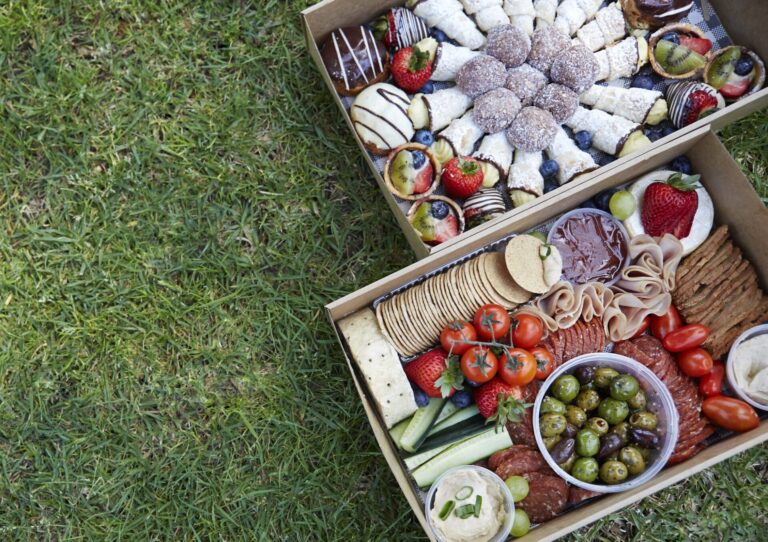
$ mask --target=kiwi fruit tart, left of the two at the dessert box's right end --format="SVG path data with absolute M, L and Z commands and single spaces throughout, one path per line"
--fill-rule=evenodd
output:
M 712 51 L 712 42 L 704 32 L 685 23 L 660 28 L 648 45 L 653 71 L 667 79 L 700 77 Z

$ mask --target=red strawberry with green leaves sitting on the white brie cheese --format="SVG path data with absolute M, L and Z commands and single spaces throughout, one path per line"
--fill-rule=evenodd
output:
M 691 233 L 699 207 L 699 175 L 670 175 L 667 182 L 655 182 L 646 188 L 640 218 L 645 233 L 661 237 L 671 233 L 684 239 Z

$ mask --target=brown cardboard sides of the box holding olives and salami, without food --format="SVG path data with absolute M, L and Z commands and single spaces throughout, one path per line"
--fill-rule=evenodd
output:
M 683 153 L 691 158 L 694 171 L 702 174 L 702 184 L 708 190 L 715 205 L 715 223 L 729 225 L 732 238 L 757 270 L 763 290 L 768 291 L 768 236 L 766 236 L 766 232 L 768 232 L 768 209 L 760 201 L 752 185 L 722 143 L 708 127 L 703 127 L 688 131 L 673 142 L 656 146 L 642 157 L 635 157 L 619 167 L 592 177 L 578 187 L 571 187 L 570 190 L 555 194 L 541 205 L 523 209 L 515 216 L 486 229 L 480 235 L 464 239 L 446 250 L 433 254 L 329 304 L 326 307 L 327 314 L 337 335 L 340 337 L 335 322 L 369 306 L 375 299 L 408 285 L 451 262 L 482 250 L 487 245 L 502 240 L 510 234 L 524 232 L 538 224 L 545 223 L 557 215 L 577 207 L 581 202 L 598 192 L 658 169 L 675 156 Z M 356 373 L 356 368 L 350 360 L 344 341 L 340 339 L 340 342 L 376 440 L 403 493 L 426 531 L 423 503 L 420 500 L 418 489 L 405 470 L 378 412 L 372 406 L 369 392 Z M 766 440 L 768 440 L 768 420 L 763 421 L 760 427 L 753 431 L 731 436 L 707 448 L 688 461 L 664 469 L 641 487 L 600 498 L 543 524 L 520 540 L 554 540 Z

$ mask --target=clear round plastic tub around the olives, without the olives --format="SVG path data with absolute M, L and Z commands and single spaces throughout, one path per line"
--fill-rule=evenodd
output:
M 541 402 L 544 400 L 544 396 L 547 394 L 552 383 L 563 374 L 570 374 L 579 367 L 584 365 L 594 367 L 611 367 L 616 369 L 620 373 L 631 374 L 637 378 L 640 383 L 640 388 L 645 392 L 648 398 L 648 410 L 656 414 L 658 418 L 657 433 L 661 437 L 661 448 L 652 455 L 652 459 L 646 465 L 646 469 L 642 474 L 627 478 L 627 480 L 621 484 L 590 484 L 582 482 L 565 472 L 560 466 L 555 463 L 552 456 L 549 455 L 549 451 L 544 446 L 544 440 L 539 430 L 539 414 L 541 411 Z M 595 491 L 598 493 L 619 493 L 621 491 L 627 491 L 640 486 L 656 476 L 658 472 L 667 464 L 669 457 L 672 455 L 672 450 L 677 443 L 678 434 L 678 415 L 675 403 L 672 400 L 672 396 L 669 394 L 669 390 L 664 383 L 647 367 L 641 363 L 630 359 L 626 356 L 620 356 L 618 354 L 609 354 L 606 352 L 598 352 L 595 354 L 585 354 L 574 358 L 555 370 L 549 378 L 544 382 L 544 385 L 539 390 L 536 396 L 536 402 L 533 405 L 533 433 L 536 436 L 536 444 L 539 447 L 539 451 L 544 456 L 544 459 L 549 463 L 559 476 L 565 479 L 569 484 Z

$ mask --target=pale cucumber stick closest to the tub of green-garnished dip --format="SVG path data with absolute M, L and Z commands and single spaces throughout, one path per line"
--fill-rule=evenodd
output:
M 492 427 L 474 437 L 454 444 L 420 465 L 413 471 L 413 478 L 419 487 L 427 487 L 448 469 L 460 465 L 470 465 L 509 446 L 512 446 L 512 439 L 507 430 L 501 428 L 497 433 L 496 428 Z

